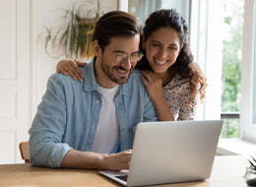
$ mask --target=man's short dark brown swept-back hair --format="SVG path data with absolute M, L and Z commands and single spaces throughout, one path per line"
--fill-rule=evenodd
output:
M 122 12 L 111 11 L 99 18 L 94 31 L 94 40 L 103 48 L 109 44 L 110 38 L 120 35 L 134 36 L 142 34 L 142 25 L 134 16 Z

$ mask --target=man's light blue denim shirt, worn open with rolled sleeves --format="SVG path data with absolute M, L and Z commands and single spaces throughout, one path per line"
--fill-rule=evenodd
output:
M 30 156 L 32 165 L 59 167 L 71 149 L 90 151 L 96 137 L 101 109 L 94 63 L 82 68 L 80 83 L 61 74 L 52 75 L 32 122 Z M 120 151 L 132 149 L 138 122 L 157 121 L 157 112 L 140 72 L 134 70 L 114 98 L 120 126 Z

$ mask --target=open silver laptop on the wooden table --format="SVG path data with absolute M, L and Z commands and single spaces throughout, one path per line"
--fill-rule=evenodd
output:
M 222 120 L 139 123 L 129 171 L 99 173 L 124 186 L 207 179 L 222 126 Z

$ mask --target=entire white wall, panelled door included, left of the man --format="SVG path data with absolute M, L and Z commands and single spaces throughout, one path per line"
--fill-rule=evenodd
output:
M 61 9 L 94 0 L 0 0 L 0 164 L 23 162 L 19 143 L 28 130 L 48 77 L 59 59 L 46 55 L 37 42 L 44 26 L 54 26 Z M 104 11 L 116 10 L 117 0 L 104 0 Z

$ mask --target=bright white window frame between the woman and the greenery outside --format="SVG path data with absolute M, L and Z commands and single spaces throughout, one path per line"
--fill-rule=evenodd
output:
M 223 6 L 222 0 L 191 1 L 190 46 L 208 84 L 197 119 L 221 119 L 224 9 L 220 7 Z

